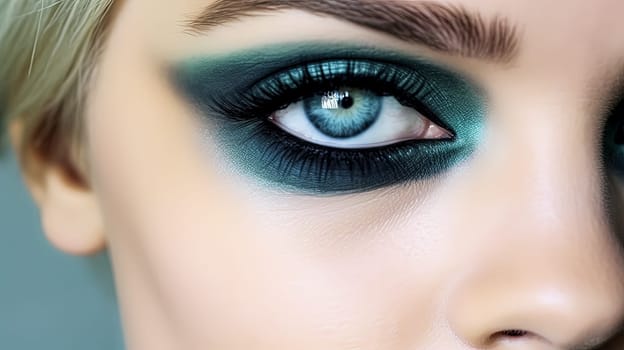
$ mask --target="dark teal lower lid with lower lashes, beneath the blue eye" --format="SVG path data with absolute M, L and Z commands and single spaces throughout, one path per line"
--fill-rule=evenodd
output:
M 231 158 L 249 159 L 253 163 L 242 164 L 246 172 L 271 174 L 270 182 L 299 192 L 369 191 L 386 186 L 388 179 L 399 183 L 429 177 L 452 162 L 452 157 L 432 156 L 439 143 L 452 141 L 416 140 L 377 149 L 346 150 L 305 142 L 263 121 L 241 122 L 236 129 L 244 130 L 246 137 L 242 143 L 227 147 L 238 150 Z M 226 135 L 220 138 L 232 139 Z

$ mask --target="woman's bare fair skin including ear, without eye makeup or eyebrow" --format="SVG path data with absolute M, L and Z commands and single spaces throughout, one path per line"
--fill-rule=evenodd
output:
M 617 331 L 624 264 L 599 145 L 623 73 L 624 2 L 453 0 L 520 26 L 509 65 L 294 11 L 182 32 L 209 2 L 117 6 L 86 104 L 90 187 L 55 168 L 31 181 L 52 242 L 109 248 L 129 349 L 573 349 Z M 476 81 L 490 101 L 478 151 L 406 186 L 271 191 L 229 168 L 214 140 L 197 142 L 192 105 L 162 69 L 327 38 Z

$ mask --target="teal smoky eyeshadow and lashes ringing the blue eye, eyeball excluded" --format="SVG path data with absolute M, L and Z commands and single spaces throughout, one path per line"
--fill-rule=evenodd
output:
M 328 71 L 340 76 L 350 69 L 354 76 L 372 77 L 383 74 L 384 67 L 412 83 L 395 85 L 411 86 L 406 98 L 420 95 L 431 119 L 453 131 L 454 139 L 409 141 L 357 152 L 319 149 L 275 130 L 266 117 L 277 108 L 236 110 L 239 103 L 253 103 L 256 95 L 266 99 L 283 85 L 297 85 L 298 79 L 305 79 L 304 73 L 318 78 Z M 257 182 L 289 192 L 364 192 L 441 174 L 473 154 L 486 117 L 485 95 L 461 74 L 422 58 L 368 46 L 271 45 L 191 57 L 174 63 L 169 73 L 234 167 Z M 348 79 L 344 85 L 348 86 Z M 314 164 L 315 155 L 319 164 Z

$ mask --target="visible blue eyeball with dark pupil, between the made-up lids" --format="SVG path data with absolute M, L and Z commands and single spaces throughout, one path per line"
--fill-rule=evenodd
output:
M 339 149 L 453 137 L 394 97 L 344 87 L 291 104 L 269 120 L 304 141 Z

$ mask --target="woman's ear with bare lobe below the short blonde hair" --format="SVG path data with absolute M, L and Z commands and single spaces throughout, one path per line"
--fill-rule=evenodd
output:
M 21 125 L 13 122 L 9 131 L 11 143 L 18 150 Z M 45 160 L 34 162 L 34 167 L 24 167 L 24 180 L 39 207 L 48 240 L 59 250 L 73 255 L 91 255 L 102 250 L 103 222 L 94 193 L 70 181 L 59 166 Z M 36 169 L 36 174 L 32 169 Z

